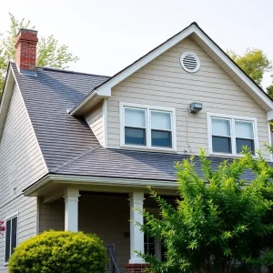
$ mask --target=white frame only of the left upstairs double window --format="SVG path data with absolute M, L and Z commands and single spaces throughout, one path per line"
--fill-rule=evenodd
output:
M 146 146 L 136 146 L 125 144 L 125 109 L 126 107 L 138 108 L 146 110 Z M 171 114 L 171 136 L 172 147 L 152 147 L 151 139 L 151 111 L 169 112 Z M 177 151 L 177 125 L 176 125 L 176 109 L 165 106 L 147 106 L 132 103 L 119 103 L 119 124 L 120 124 L 120 147 L 134 148 L 134 149 L 147 149 L 158 151 Z

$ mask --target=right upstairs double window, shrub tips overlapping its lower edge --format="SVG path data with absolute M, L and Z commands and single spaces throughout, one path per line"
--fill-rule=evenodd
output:
M 252 155 L 258 149 L 256 118 L 207 113 L 209 152 L 239 155 L 248 147 Z

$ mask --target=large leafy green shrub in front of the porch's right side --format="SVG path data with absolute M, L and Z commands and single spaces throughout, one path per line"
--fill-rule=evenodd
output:
M 200 161 L 203 176 L 195 170 Z M 244 180 L 246 172 L 256 178 Z M 223 161 L 213 170 L 204 151 L 177 163 L 177 206 L 171 206 L 151 190 L 160 217 L 141 211 L 141 230 L 160 238 L 167 249 L 165 261 L 138 253 L 152 272 L 229 273 L 273 262 L 270 238 L 273 231 L 273 168 L 263 157 Z M 240 262 L 240 267 L 236 264 Z M 238 271 L 236 271 L 238 270 Z

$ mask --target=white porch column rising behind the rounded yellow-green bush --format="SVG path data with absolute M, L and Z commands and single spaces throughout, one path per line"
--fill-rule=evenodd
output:
M 78 231 L 78 197 L 79 190 L 74 187 L 67 187 L 65 193 L 66 214 L 65 214 L 65 230 Z

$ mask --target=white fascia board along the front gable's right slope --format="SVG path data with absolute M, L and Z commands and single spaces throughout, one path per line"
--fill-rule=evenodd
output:
M 207 44 L 207 46 L 215 52 L 215 54 L 221 58 L 221 60 L 234 72 L 236 73 L 240 79 L 249 87 L 255 94 L 263 100 L 270 109 L 273 109 L 273 102 L 272 100 L 258 87 L 256 84 L 252 82 L 252 80 L 240 69 L 236 64 L 234 64 L 230 59 L 224 54 L 217 45 L 215 45 L 207 35 L 204 35 L 200 29 L 197 28 L 196 25 L 194 32 L 196 35 Z

